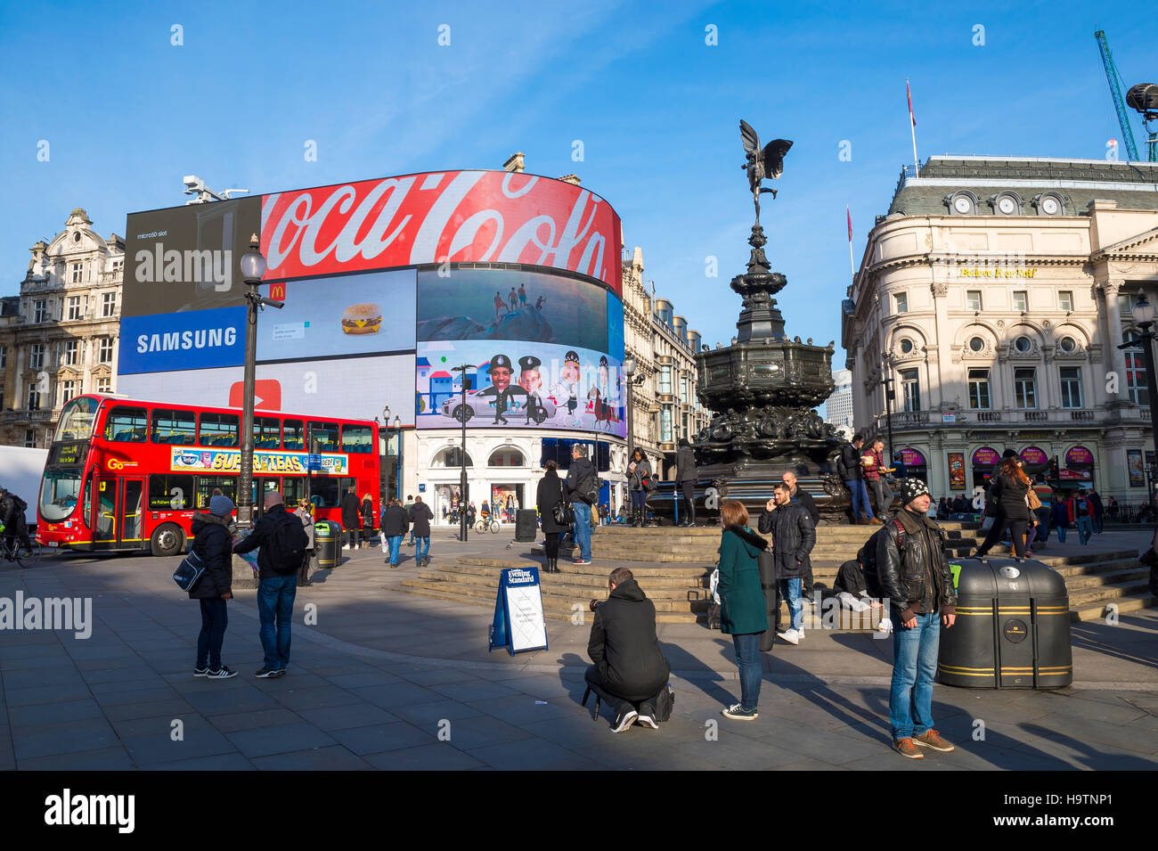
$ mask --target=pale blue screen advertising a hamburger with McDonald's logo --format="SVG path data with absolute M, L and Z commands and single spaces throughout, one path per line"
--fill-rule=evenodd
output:
M 415 287 L 412 269 L 264 284 L 285 307 L 258 323 L 257 360 L 412 353 Z

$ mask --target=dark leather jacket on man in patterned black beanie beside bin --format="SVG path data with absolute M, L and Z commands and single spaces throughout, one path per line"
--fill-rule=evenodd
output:
M 895 515 L 904 528 L 903 543 L 893 518 L 877 538 L 877 571 L 882 596 L 892 601 L 894 619 L 913 615 L 957 612 L 957 588 L 945 558 L 945 540 L 937 521 L 901 509 Z

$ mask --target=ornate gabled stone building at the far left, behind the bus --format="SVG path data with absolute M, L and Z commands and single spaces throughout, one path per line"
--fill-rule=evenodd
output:
M 0 443 L 46 447 L 60 408 L 115 393 L 125 243 L 78 207 L 32 245 L 19 296 L 0 310 Z

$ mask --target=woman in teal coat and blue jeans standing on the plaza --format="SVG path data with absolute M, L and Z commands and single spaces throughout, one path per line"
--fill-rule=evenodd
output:
M 754 721 L 758 717 L 756 703 L 763 674 L 760 636 L 768 631 L 756 556 L 768 549 L 768 542 L 748 528 L 748 509 L 742 502 L 725 502 L 720 520 L 724 527 L 717 586 L 721 601 L 720 631 L 732 636 L 735 663 L 740 668 L 740 703 L 723 710 L 723 714 L 738 721 Z

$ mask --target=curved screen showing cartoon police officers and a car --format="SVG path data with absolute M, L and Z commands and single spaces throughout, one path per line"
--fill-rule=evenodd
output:
M 469 388 L 462 398 L 466 365 Z M 552 428 L 626 436 L 622 362 L 551 343 L 427 340 L 415 360 L 419 428 Z

